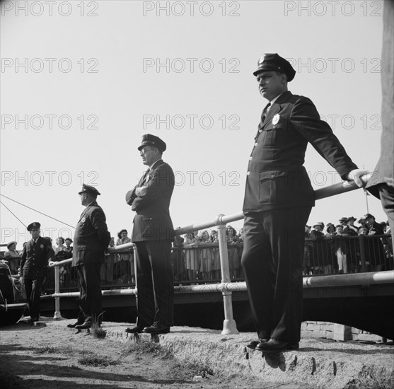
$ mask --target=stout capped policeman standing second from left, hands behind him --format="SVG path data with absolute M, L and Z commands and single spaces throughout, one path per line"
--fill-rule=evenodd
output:
M 76 323 L 67 325 L 78 330 L 90 328 L 93 323 L 100 325 L 102 321 L 100 269 L 110 233 L 104 211 L 96 201 L 99 194 L 95 187 L 85 184 L 79 192 L 86 208 L 76 225 L 71 266 L 76 267 L 78 274 L 80 312 Z

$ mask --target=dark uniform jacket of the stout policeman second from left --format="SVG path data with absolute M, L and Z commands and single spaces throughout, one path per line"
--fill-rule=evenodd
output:
M 103 209 L 93 202 L 82 212 L 74 234 L 72 266 L 102 263 L 110 243 Z

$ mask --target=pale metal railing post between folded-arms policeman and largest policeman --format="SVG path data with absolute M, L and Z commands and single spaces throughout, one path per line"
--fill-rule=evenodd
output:
M 220 217 L 219 215 L 218 217 Z M 230 282 L 230 267 L 228 266 L 228 251 L 226 238 L 226 224 L 218 226 L 219 235 L 219 253 L 220 253 L 220 267 L 221 267 L 221 283 L 226 284 Z M 233 303 L 232 293 L 225 287 L 221 292 L 223 294 L 224 303 L 224 321 L 222 335 L 239 334 L 237 330 L 236 320 L 233 319 Z

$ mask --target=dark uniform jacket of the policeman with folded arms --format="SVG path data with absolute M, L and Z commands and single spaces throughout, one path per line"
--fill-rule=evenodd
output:
M 146 182 L 147 181 L 147 182 Z M 170 200 L 175 185 L 173 169 L 159 160 L 149 170 L 149 180 L 144 174 L 139 183 L 126 194 L 127 204 L 136 211 L 132 241 L 173 241 L 173 222 L 170 218 Z M 146 186 L 146 194 L 137 197 L 136 188 Z

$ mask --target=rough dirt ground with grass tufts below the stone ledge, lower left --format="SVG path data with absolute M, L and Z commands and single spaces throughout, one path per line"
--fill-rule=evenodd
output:
M 21 322 L 0 328 L 1 389 L 301 387 L 305 388 L 253 377 L 213 376 L 204 366 L 179 364 L 168 349 L 146 340 L 118 342 L 86 331 Z

